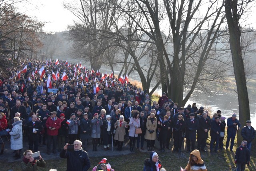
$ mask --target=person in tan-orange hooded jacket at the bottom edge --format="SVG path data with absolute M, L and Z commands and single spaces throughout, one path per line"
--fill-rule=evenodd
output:
M 190 153 L 188 164 L 184 171 L 207 171 L 204 161 L 201 159 L 199 150 Z

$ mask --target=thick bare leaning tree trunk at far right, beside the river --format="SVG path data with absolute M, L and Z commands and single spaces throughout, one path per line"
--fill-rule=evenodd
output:
M 237 0 L 226 0 L 225 2 L 225 12 L 230 35 L 230 49 L 238 93 L 239 120 L 242 125 L 246 125 L 246 120 L 250 120 L 250 105 L 240 42 L 241 32 L 238 19 L 240 18 L 240 16 L 238 16 L 240 12 L 237 10 Z M 238 144 L 242 141 L 240 131 L 238 131 L 237 140 Z

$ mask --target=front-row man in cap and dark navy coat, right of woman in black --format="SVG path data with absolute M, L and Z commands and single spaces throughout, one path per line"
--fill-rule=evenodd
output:
M 198 120 L 195 119 L 195 114 L 190 113 L 189 119 L 186 120 L 186 145 L 187 152 L 190 152 L 190 142 L 192 144 L 192 151 L 195 149 L 195 141 L 196 141 L 196 130 L 199 129 Z

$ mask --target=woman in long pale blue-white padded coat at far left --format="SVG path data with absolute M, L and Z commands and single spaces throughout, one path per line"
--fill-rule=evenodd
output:
M 12 123 L 11 135 L 11 149 L 16 151 L 13 157 L 20 159 L 20 151 L 23 148 L 22 145 L 22 121 L 19 117 L 14 117 L 14 123 Z

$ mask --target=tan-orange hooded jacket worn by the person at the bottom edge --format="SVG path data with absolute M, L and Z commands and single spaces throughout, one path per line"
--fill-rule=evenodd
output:
M 191 155 L 195 155 L 198 158 L 197 163 L 194 165 L 190 164 L 190 160 L 192 160 Z M 187 171 L 207 171 L 206 166 L 204 165 L 204 161 L 201 159 L 200 152 L 198 150 L 194 150 L 190 153 L 188 164 L 185 169 Z

